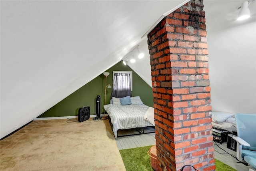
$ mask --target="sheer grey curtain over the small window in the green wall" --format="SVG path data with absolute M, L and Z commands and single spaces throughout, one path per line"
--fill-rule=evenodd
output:
M 132 97 L 130 74 L 115 73 L 112 87 L 112 97 Z

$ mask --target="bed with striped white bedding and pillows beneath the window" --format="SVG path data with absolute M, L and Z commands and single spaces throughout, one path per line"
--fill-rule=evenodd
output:
M 112 97 L 110 104 L 104 105 L 110 117 L 114 136 L 119 129 L 154 127 L 154 108 L 145 105 L 140 96 Z

